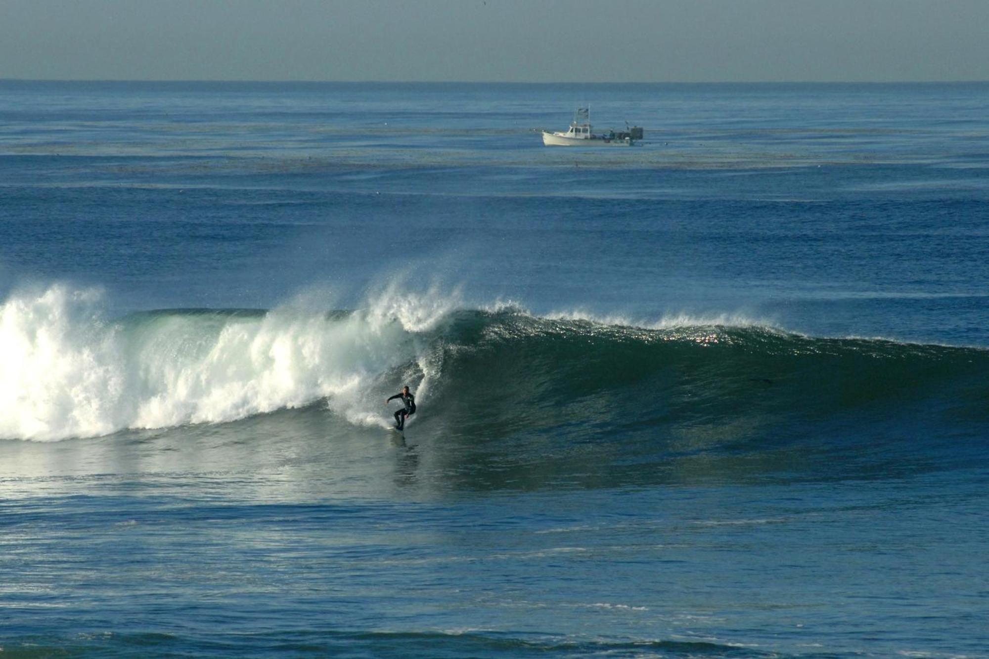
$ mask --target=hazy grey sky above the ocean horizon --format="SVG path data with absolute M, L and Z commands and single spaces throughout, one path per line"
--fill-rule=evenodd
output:
M 989 0 L 0 0 L 0 78 L 987 80 Z

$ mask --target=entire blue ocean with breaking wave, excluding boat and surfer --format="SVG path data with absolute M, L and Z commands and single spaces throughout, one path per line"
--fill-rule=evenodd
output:
M 0 656 L 989 657 L 986 107 L 0 81 Z

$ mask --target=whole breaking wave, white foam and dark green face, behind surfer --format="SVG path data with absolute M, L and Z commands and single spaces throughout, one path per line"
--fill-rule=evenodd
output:
M 386 291 L 349 312 L 289 305 L 109 321 L 97 293 L 53 286 L 0 307 L 0 437 L 215 424 L 321 402 L 348 424 L 386 425 L 383 398 L 404 383 L 429 411 L 410 423 L 428 418 L 445 432 L 617 440 L 659 429 L 694 447 L 822 428 L 985 434 L 987 350 L 728 322 L 635 327 L 470 310 L 436 291 Z

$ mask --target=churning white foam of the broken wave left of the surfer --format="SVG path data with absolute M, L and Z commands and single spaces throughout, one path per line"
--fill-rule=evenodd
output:
M 0 438 L 227 422 L 319 399 L 351 423 L 387 425 L 375 385 L 405 367 L 390 388 L 408 383 L 428 396 L 439 365 L 418 332 L 451 304 L 438 291 L 393 287 L 343 317 L 288 305 L 254 317 L 109 322 L 99 291 L 18 293 L 0 306 Z

